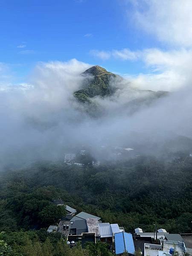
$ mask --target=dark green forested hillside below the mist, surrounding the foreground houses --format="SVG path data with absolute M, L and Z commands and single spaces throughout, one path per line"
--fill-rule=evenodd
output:
M 65 215 L 64 207 L 51 202 L 58 196 L 78 211 L 119 223 L 128 232 L 136 227 L 153 231 L 157 223 L 171 233 L 191 233 L 191 171 L 190 164 L 151 157 L 98 168 L 41 162 L 7 169 L 0 177 L 0 240 L 11 246 L 12 255 L 93 255 L 91 245 L 70 254 L 59 234 L 42 229 Z M 35 248 L 39 254 L 34 254 Z M 66 254 L 59 254 L 59 248 Z

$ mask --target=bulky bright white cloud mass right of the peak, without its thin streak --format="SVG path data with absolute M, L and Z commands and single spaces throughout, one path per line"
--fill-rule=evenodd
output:
M 152 72 L 137 76 L 134 81 L 140 86 L 153 90 L 176 90 L 191 84 L 192 50 L 146 49 L 140 58 Z

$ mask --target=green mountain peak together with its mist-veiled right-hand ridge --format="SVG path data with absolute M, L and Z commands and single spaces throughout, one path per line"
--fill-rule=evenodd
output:
M 125 102 L 115 106 L 114 112 L 125 111 L 127 114 L 134 113 L 141 107 L 145 107 L 154 102 L 155 99 L 166 96 L 166 91 L 140 90 L 123 79 L 121 76 L 108 72 L 102 67 L 93 66 L 81 73 L 84 77 L 82 89 L 74 92 L 74 96 L 79 102 L 84 103 L 84 107 L 90 115 L 106 114 L 109 112 L 108 106 L 99 102 L 99 99 L 111 100 L 111 105 L 120 96 L 126 87 Z M 96 96 L 99 96 L 95 98 Z

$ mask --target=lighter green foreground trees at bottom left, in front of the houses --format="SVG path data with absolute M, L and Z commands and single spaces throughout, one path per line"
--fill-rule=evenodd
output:
M 46 230 L 7 232 L 0 234 L 0 255 L 9 256 L 112 256 L 108 244 L 87 243 L 70 248 L 59 233 Z M 7 242 L 5 242 L 5 240 Z M 8 244 L 11 244 L 8 245 Z M 126 255 L 126 254 L 125 254 Z

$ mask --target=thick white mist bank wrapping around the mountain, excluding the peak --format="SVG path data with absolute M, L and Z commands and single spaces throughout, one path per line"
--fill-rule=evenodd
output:
M 156 65 L 153 57 L 153 54 L 157 55 L 156 49 L 144 54 L 150 55 L 148 63 Z M 158 65 L 166 62 L 168 66 L 173 66 L 169 55 L 165 53 L 158 56 L 161 58 Z M 84 77 L 80 73 L 89 67 L 89 64 L 76 59 L 39 63 L 25 83 L 15 87 L 10 85 L 9 90 L 4 86 L 0 90 L 1 163 L 18 163 L 22 157 L 26 161 L 41 158 L 62 159 L 65 150 L 77 145 L 87 145 L 94 155 L 96 146 L 100 143 L 110 142 L 116 145 L 118 142 L 123 145 L 130 144 L 130 141 L 140 143 L 143 140 L 146 148 L 148 136 L 150 141 L 154 137 L 160 143 L 169 131 L 172 134 L 191 136 L 191 89 L 172 93 L 167 98 L 157 100 L 151 107 L 142 106 L 137 113 L 128 115 L 130 105 L 127 104 L 133 97 L 139 97 L 143 93 L 136 90 L 131 95 L 133 90 L 130 83 L 125 82 L 112 97 L 94 99 L 106 111 L 105 116 L 98 119 L 87 116 L 82 111 L 82 105 L 74 100 L 73 92 L 83 84 Z M 163 71 L 162 73 L 166 74 Z M 169 75 L 170 73 L 167 78 Z M 151 75 L 141 77 L 141 82 L 145 78 L 146 84 L 150 79 L 151 84 L 157 84 L 158 79 L 162 80 L 162 77 L 157 79 Z M 166 81 L 166 77 L 163 79 Z M 133 82 L 136 83 L 136 80 L 133 79 Z M 144 92 L 144 95 L 145 93 L 148 94 Z M 137 134 L 134 137 L 132 131 L 142 133 L 142 138 Z

